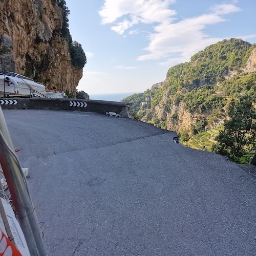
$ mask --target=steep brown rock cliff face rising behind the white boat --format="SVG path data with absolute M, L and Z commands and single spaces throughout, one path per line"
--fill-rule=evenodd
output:
M 72 66 L 68 41 L 61 36 L 61 11 L 55 0 L 1 0 L 0 72 L 5 67 L 48 89 L 74 93 L 82 70 Z

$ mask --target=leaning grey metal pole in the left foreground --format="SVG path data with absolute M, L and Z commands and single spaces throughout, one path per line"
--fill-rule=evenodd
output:
M 13 144 L 0 106 L 0 163 L 11 193 L 20 227 L 23 230 L 31 255 L 44 256 L 46 251 L 41 240 L 40 228 L 28 190 L 22 167 L 15 155 Z M 7 143 L 5 143 L 7 142 Z M 8 144 L 11 148 L 8 150 Z

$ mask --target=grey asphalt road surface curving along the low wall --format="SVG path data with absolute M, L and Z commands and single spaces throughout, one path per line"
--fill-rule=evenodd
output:
M 256 255 L 256 179 L 128 118 L 4 110 L 48 255 Z

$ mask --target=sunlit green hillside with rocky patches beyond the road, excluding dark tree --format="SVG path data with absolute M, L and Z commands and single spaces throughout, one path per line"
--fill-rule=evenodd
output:
M 230 102 L 241 97 L 255 110 L 256 45 L 231 38 L 170 68 L 151 90 L 122 101 L 133 103 L 135 118 L 177 132 L 185 145 L 211 151 L 230 119 Z M 252 144 L 243 149 L 243 154 L 255 151 Z

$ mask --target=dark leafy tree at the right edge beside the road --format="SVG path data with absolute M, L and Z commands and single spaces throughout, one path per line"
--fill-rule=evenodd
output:
M 256 109 L 253 99 L 245 96 L 237 102 L 232 100 L 228 116 L 230 120 L 224 124 L 224 131 L 216 137 L 218 143 L 212 150 L 236 161 L 237 158 L 255 150 Z

